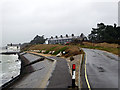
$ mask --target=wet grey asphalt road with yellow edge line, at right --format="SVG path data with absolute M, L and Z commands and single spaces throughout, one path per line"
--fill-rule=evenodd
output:
M 86 69 L 91 88 L 118 88 L 118 56 L 101 50 L 83 50 L 86 53 Z

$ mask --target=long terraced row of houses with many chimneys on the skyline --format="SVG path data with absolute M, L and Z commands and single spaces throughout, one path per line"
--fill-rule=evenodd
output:
M 74 36 L 74 34 L 72 34 L 71 36 L 68 36 L 66 34 L 66 36 L 55 36 L 55 37 L 51 37 L 48 38 L 48 40 L 46 41 L 46 44 L 67 44 L 70 42 L 73 42 L 75 39 L 77 40 L 87 40 L 87 38 L 85 37 L 85 35 L 80 35 L 80 36 Z

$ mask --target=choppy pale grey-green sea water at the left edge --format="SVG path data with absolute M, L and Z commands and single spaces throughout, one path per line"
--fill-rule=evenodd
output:
M 2 50 L 3 51 L 3 50 Z M 2 52 L 0 50 L 0 52 Z M 0 87 L 20 74 L 21 61 L 18 55 L 0 54 Z

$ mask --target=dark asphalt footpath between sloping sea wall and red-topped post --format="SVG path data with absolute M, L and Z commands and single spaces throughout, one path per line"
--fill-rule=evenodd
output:
M 69 72 L 67 61 L 63 58 L 50 57 L 57 60 L 56 67 L 49 79 L 47 88 L 68 88 L 72 84 L 72 77 Z

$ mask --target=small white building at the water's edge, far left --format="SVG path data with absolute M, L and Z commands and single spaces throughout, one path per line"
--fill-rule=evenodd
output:
M 19 52 L 20 51 L 20 44 L 7 44 L 7 52 Z

